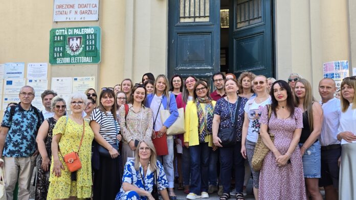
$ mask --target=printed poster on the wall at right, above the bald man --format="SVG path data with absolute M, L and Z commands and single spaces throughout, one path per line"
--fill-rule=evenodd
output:
M 349 76 L 348 61 L 332 61 L 323 64 L 324 78 L 333 79 L 337 90 L 340 90 L 342 80 Z

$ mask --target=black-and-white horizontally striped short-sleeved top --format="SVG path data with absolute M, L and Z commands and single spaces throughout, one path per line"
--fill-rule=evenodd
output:
M 90 115 L 91 121 L 94 120 L 100 124 L 99 133 L 103 138 L 110 144 L 116 144 L 116 128 L 115 119 L 111 112 L 106 112 L 106 114 L 100 111 L 98 108 L 94 109 Z M 119 123 L 117 123 L 117 131 L 120 132 Z

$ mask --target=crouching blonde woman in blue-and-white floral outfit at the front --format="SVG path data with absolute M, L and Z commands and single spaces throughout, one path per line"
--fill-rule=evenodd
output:
M 156 158 L 155 148 L 150 140 L 138 144 L 135 159 L 127 161 L 122 178 L 122 187 L 115 200 L 154 200 L 151 192 L 157 187 L 164 200 L 168 200 L 168 181 L 163 165 Z

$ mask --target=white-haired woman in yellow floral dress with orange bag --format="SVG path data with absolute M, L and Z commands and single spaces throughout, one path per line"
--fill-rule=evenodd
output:
M 82 112 L 87 104 L 87 97 L 74 93 L 69 99 L 72 114 L 62 116 L 53 129 L 52 164 L 50 187 L 47 199 L 89 198 L 92 194 L 92 141 L 94 133 Z M 73 151 L 77 152 L 83 134 L 83 141 L 78 153 L 82 168 L 76 171 L 76 181 L 64 164 L 63 157 Z M 59 148 L 58 148 L 59 146 Z M 60 152 L 59 152 L 60 150 Z

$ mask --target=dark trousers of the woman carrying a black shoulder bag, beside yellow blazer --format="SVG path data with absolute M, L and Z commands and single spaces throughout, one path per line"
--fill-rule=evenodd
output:
M 241 155 L 241 142 L 231 147 L 220 148 L 220 179 L 224 193 L 230 193 L 231 169 L 235 168 L 235 189 L 242 193 L 244 179 L 244 158 Z

